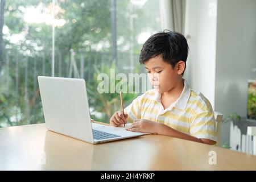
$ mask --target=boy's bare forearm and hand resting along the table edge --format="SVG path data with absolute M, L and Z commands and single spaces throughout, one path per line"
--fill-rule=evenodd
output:
M 147 119 L 137 119 L 134 121 L 133 125 L 127 128 L 128 131 L 135 131 L 135 132 L 143 132 L 143 133 L 152 133 L 152 134 L 160 134 L 160 135 L 167 135 L 170 137 L 176 137 L 186 140 L 192 140 L 195 142 L 206 143 L 206 144 L 215 144 L 213 140 L 210 139 L 199 139 L 193 137 L 191 135 L 182 133 L 171 127 L 164 125 L 163 123 L 158 123 L 154 121 L 149 121 Z

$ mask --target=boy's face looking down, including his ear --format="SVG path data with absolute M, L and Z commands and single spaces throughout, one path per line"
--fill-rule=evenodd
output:
M 148 78 L 159 93 L 168 92 L 179 83 L 184 71 L 180 64 L 184 64 L 184 62 L 179 61 L 173 69 L 171 64 L 164 62 L 161 56 L 154 57 L 144 63 Z

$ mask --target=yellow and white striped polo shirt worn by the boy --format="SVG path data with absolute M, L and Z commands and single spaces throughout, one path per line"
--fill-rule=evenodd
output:
M 180 97 L 166 109 L 160 102 L 160 96 L 157 90 L 151 89 L 135 98 L 125 108 L 128 121 L 148 119 L 196 138 L 217 141 L 216 120 L 210 102 L 200 92 L 191 90 L 186 80 Z

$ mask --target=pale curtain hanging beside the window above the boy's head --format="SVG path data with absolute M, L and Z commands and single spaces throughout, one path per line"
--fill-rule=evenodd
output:
M 184 34 L 185 0 L 160 0 L 162 30 Z

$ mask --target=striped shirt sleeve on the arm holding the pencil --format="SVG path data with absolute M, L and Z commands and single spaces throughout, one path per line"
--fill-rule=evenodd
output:
M 135 119 L 141 119 L 141 98 L 142 96 L 135 98 L 135 100 L 124 109 L 125 114 L 128 114 L 127 121 L 133 123 Z

